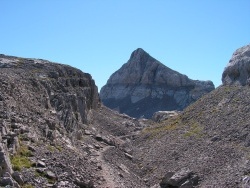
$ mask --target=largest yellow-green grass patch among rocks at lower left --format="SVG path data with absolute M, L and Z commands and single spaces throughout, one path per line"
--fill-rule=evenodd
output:
M 31 156 L 32 152 L 28 149 L 28 147 L 20 143 L 20 148 L 18 149 L 17 153 L 10 157 L 13 169 L 20 171 L 23 167 L 30 168 L 32 163 L 28 157 Z

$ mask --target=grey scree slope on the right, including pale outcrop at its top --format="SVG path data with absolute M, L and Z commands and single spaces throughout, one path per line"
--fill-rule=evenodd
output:
M 179 116 L 144 129 L 133 142 L 134 161 L 148 185 L 250 187 L 250 88 L 239 84 L 247 82 L 248 57 L 247 46 L 230 60 L 244 73 L 239 80 L 225 80 L 227 74 L 232 78 L 227 67 L 222 86 Z

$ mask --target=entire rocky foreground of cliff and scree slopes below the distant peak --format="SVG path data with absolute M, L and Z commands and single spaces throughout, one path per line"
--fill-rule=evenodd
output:
M 102 106 L 89 74 L 1 55 L 0 186 L 250 187 L 249 51 L 230 60 L 237 77 L 229 64 L 223 85 L 157 122 Z

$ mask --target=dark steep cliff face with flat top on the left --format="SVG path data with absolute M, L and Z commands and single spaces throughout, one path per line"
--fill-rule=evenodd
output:
M 1 98 L 16 100 L 12 108 L 20 108 L 22 113 L 26 108 L 42 114 L 54 113 L 64 127 L 74 129 L 79 123 L 87 124 L 89 111 L 97 108 L 97 87 L 89 74 L 78 69 L 46 60 L 3 55 L 0 67 L 2 87 L 9 92 L 9 96 L 5 93 Z M 18 101 L 19 98 L 24 101 Z M 32 103 L 28 101 L 30 98 Z

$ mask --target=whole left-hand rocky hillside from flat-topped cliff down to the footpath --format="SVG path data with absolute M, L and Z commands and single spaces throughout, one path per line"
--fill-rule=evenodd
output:
M 144 124 L 102 107 L 89 74 L 0 55 L 0 88 L 0 186 L 144 187 L 123 148 Z

